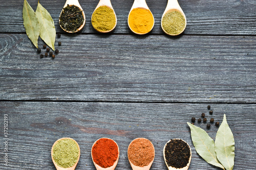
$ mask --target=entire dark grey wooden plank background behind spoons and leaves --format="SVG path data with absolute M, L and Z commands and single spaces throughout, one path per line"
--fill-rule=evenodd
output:
M 137 137 L 155 146 L 152 170 L 167 169 L 162 150 L 171 138 L 190 145 L 189 169 L 219 169 L 206 163 L 191 141 L 186 122 L 202 112 L 219 122 L 226 114 L 236 142 L 233 169 L 256 169 L 256 1 L 179 0 L 187 27 L 181 36 L 170 37 L 160 27 L 167 1 L 146 1 L 155 27 L 138 36 L 127 26 L 132 0 L 112 0 L 118 23 L 109 34 L 91 25 L 98 1 L 80 0 L 86 25 L 74 35 L 58 26 L 65 1 L 41 0 L 61 33 L 54 60 L 40 59 L 28 39 L 23 1 L 0 2 L 0 169 L 55 169 L 50 150 L 61 137 L 80 145 L 76 169 L 95 170 L 90 151 L 101 137 L 119 145 L 117 170 L 131 169 L 127 147 Z M 37 1 L 28 2 L 35 10 Z M 43 44 L 39 39 L 39 47 Z M 196 125 L 215 139 L 217 127 Z

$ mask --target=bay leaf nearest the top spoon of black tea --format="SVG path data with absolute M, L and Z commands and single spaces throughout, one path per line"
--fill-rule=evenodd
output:
M 44 40 L 45 43 L 52 48 L 52 50 L 54 50 L 56 31 L 50 13 L 41 6 L 39 1 L 35 13 L 40 23 L 41 39 Z

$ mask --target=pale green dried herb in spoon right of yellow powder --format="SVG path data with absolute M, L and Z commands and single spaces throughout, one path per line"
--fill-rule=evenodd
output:
M 178 11 L 168 12 L 163 16 L 162 27 L 168 34 L 180 34 L 185 28 L 185 18 Z

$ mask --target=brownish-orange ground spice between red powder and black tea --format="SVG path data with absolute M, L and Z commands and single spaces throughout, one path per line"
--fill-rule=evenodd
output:
M 128 148 L 128 158 L 136 166 L 146 166 L 154 160 L 155 149 L 150 140 L 137 138 Z

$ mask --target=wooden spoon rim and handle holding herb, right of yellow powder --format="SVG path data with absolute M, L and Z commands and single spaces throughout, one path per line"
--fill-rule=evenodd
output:
M 181 15 L 182 15 L 182 16 L 184 17 L 184 19 L 185 19 L 185 27 L 184 27 L 184 29 L 183 29 L 179 34 L 181 34 L 181 33 L 185 30 L 185 28 L 186 28 L 186 26 L 187 26 L 187 19 L 186 19 L 186 16 L 185 16 L 184 12 L 182 11 L 182 9 L 181 9 L 179 3 L 178 3 L 178 0 L 168 0 L 167 6 L 166 6 L 166 8 L 165 8 L 165 10 L 164 10 L 164 12 L 163 12 L 163 15 L 162 15 L 161 27 L 162 27 L 162 30 L 163 30 L 163 32 L 164 32 L 165 34 L 168 34 L 168 35 L 179 35 L 179 34 L 169 34 L 169 33 L 165 32 L 164 29 L 163 29 L 163 25 L 162 25 L 162 23 L 163 23 L 163 22 L 162 22 L 162 21 L 163 21 L 163 16 L 164 16 L 166 13 L 172 12 L 172 11 L 178 11 L 178 12 L 180 12 Z

